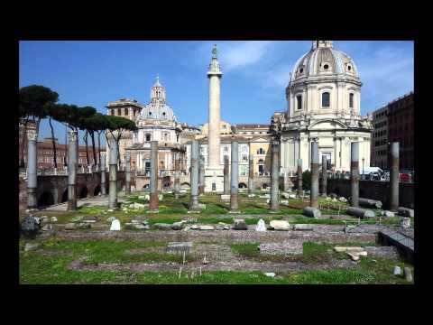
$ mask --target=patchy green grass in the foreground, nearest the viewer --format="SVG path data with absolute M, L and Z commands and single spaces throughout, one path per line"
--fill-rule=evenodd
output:
M 392 275 L 396 263 L 376 258 L 362 258 L 355 269 L 313 270 L 293 273 L 277 273 L 277 278 L 270 278 L 261 272 L 205 272 L 200 276 L 195 270 L 183 272 L 179 278 L 177 272 L 143 272 L 130 271 L 77 271 L 69 270 L 70 262 L 79 257 L 87 256 L 84 263 L 134 263 L 134 262 L 177 262 L 180 255 L 167 257 L 162 253 L 127 254 L 133 248 L 148 248 L 164 246 L 165 242 L 140 242 L 132 240 L 63 240 L 51 237 L 48 240 L 36 240 L 41 246 L 30 252 L 20 251 L 20 283 L 53 284 L 53 283 L 165 283 L 165 284 L 199 284 L 199 283 L 230 283 L 230 284 L 304 284 L 304 283 L 407 283 L 402 277 Z M 25 242 L 20 241 L 23 248 Z M 345 243 L 359 245 L 359 243 Z M 330 245 L 305 243 L 305 258 L 326 258 Z M 254 257 L 256 244 L 232 246 L 238 254 Z M 317 255 L 317 256 L 316 256 Z M 318 257 L 320 256 L 320 257 Z M 187 258 L 190 258 L 188 256 Z M 187 259 L 189 260 L 189 259 Z M 315 263 L 312 261 L 310 263 Z M 410 265 L 409 265 L 410 266 Z M 410 266 L 411 267 L 411 266 Z

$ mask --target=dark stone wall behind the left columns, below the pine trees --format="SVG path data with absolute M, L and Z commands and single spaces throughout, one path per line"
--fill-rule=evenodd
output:
M 125 174 L 117 172 L 119 190 L 124 189 Z M 134 185 L 134 174 L 131 175 L 131 184 Z M 27 209 L 27 181 L 20 177 L 19 209 Z M 98 195 L 101 188 L 99 172 L 78 173 L 77 194 L 79 197 L 92 197 Z M 108 172 L 106 172 L 106 192 L 108 193 Z M 66 175 L 38 175 L 38 188 L 36 190 L 38 202 L 59 204 L 68 200 L 68 176 Z

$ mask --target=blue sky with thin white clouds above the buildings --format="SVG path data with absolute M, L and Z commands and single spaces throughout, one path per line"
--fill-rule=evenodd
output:
M 207 122 L 207 66 L 217 43 L 223 70 L 221 118 L 231 124 L 269 123 L 286 109 L 290 70 L 310 41 L 20 42 L 20 87 L 38 84 L 60 94 L 60 102 L 93 106 L 133 98 L 147 104 L 157 74 L 178 121 Z M 362 114 L 413 89 L 413 42 L 336 41 L 355 60 L 364 83 Z M 47 121 L 39 138 L 51 136 Z M 65 128 L 56 124 L 65 141 Z

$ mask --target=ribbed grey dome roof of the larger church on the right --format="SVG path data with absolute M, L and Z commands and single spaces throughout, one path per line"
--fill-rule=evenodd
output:
M 360 82 L 355 62 L 345 52 L 334 49 L 332 41 L 313 41 L 311 50 L 296 62 L 290 82 L 336 76 Z

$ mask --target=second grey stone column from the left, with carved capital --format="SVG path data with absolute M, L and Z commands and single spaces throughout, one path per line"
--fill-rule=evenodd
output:
M 69 130 L 68 146 L 68 210 L 77 209 L 78 133 Z

